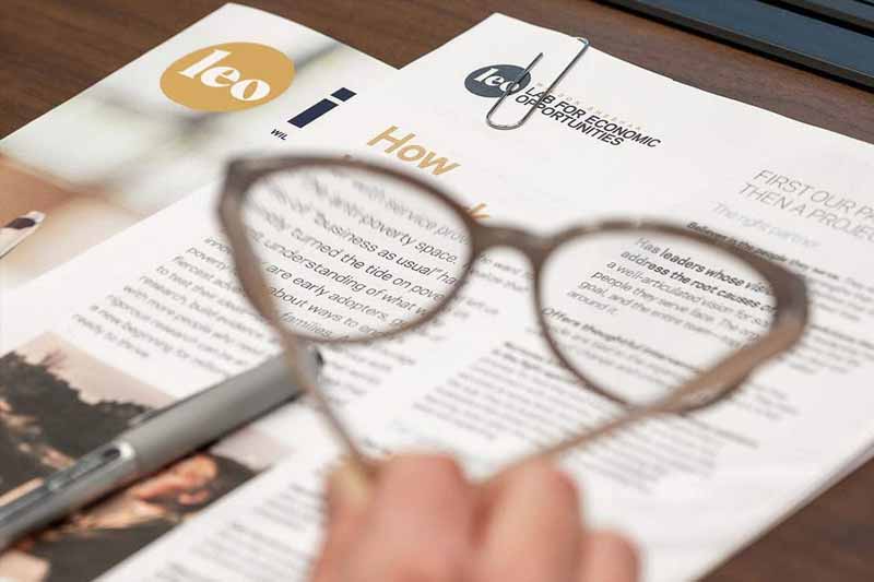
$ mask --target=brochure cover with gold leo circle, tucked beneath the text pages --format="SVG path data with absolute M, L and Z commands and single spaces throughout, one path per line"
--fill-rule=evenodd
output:
M 43 216 L 0 260 L 0 290 L 216 179 L 236 154 L 282 151 L 392 72 L 305 26 L 225 4 L 0 141 L 0 227 Z

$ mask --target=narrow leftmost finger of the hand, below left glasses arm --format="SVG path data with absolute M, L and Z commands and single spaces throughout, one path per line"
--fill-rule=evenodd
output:
M 328 479 L 328 526 L 312 570 L 312 582 L 342 580 L 350 548 L 361 535 L 373 497 L 370 484 L 352 464 L 344 462 Z

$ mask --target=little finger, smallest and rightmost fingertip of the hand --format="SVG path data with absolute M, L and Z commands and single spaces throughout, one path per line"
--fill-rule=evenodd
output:
M 637 548 L 612 532 L 597 532 L 582 543 L 579 582 L 635 582 L 640 574 Z

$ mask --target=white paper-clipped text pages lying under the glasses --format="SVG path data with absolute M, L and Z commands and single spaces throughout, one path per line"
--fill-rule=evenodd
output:
M 513 119 L 578 49 L 565 35 L 492 16 L 296 146 L 395 164 L 466 205 L 486 204 L 494 224 L 552 231 L 607 215 L 658 216 L 735 237 L 807 277 L 813 305 L 804 341 L 737 396 L 563 460 L 586 490 L 587 518 L 640 544 L 645 580 L 689 580 L 874 443 L 874 278 L 866 259 L 874 146 L 677 84 L 597 48 L 521 129 L 485 124 L 496 96 L 487 87 L 545 52 L 528 86 L 499 111 L 501 120 Z M 194 192 L 13 297 L 2 312 L 0 347 L 14 349 L 7 358 L 38 366 L 47 352 L 74 346 L 82 357 L 182 396 L 274 354 L 272 335 L 236 292 L 212 218 L 216 193 Z M 323 229 L 308 234 L 345 246 Z M 331 266 L 361 278 L 362 288 L 376 284 L 354 266 Z M 581 277 L 599 268 L 586 265 Z M 639 285 L 626 276 L 624 284 Z M 85 280 L 91 284 L 63 285 Z M 450 450 L 477 473 L 508 451 L 607 414 L 545 351 L 529 287 L 519 257 L 489 252 L 439 326 L 327 351 L 326 385 L 371 450 Z M 344 312 L 317 293 L 294 290 L 317 306 L 310 319 Z M 25 317 L 28 302 L 39 312 Z M 295 452 L 108 580 L 305 579 L 320 535 L 321 478 L 336 448 L 300 404 L 250 433 Z

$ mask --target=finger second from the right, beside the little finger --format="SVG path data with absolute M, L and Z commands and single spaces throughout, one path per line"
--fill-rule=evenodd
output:
M 574 580 L 582 519 L 570 477 L 545 461 L 534 461 L 500 475 L 483 495 L 476 580 Z

